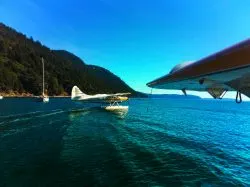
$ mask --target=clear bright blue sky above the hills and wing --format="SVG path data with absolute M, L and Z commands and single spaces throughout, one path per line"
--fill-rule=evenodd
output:
M 249 0 L 0 0 L 0 12 L 1 22 L 103 66 L 143 92 L 176 64 L 250 35 Z

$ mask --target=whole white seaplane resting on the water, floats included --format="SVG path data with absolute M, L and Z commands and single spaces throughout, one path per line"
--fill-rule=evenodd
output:
M 109 112 L 126 113 L 129 107 L 120 105 L 119 103 L 127 101 L 128 95 L 130 93 L 88 95 L 83 93 L 77 86 L 74 86 L 71 91 L 71 100 L 77 102 L 109 103 L 109 105 L 105 105 L 102 108 Z

